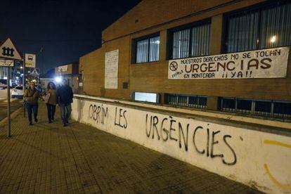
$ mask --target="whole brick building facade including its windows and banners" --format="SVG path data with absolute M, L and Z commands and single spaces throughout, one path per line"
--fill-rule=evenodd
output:
M 291 117 L 290 1 L 144 0 L 79 60 L 91 96 Z

